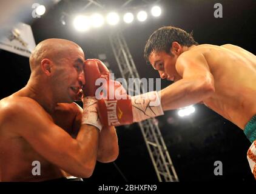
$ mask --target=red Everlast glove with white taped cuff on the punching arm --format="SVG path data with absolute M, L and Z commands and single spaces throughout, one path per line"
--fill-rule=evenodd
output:
M 118 81 L 102 79 L 103 85 L 96 91 L 98 112 L 103 125 L 126 125 L 163 115 L 156 91 L 129 96 Z M 101 94 L 101 95 L 98 95 Z

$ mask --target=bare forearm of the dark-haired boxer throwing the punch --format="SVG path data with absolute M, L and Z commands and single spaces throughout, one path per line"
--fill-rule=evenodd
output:
M 214 85 L 202 79 L 181 79 L 158 92 L 163 110 L 196 104 L 214 93 Z

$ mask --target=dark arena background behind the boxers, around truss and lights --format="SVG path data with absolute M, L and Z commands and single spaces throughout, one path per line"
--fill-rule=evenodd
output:
M 153 1 L 135 1 L 120 8 L 126 1 L 99 1 L 104 10 L 116 8 L 125 11 L 130 6 L 152 4 Z M 223 18 L 214 18 L 214 4 L 223 5 Z M 109 43 L 109 32 L 121 29 L 141 78 L 158 78 L 158 73 L 146 65 L 143 58 L 144 45 L 150 34 L 164 25 L 174 25 L 187 32 L 194 32 L 199 44 L 235 44 L 249 52 L 255 51 L 255 1 L 160 1 L 162 15 L 146 22 L 133 22 L 117 27 L 101 27 L 86 33 L 73 28 L 71 13 L 78 13 L 86 1 L 60 1 L 50 7 L 45 15 L 30 21 L 33 35 L 38 42 L 47 38 L 64 38 L 81 45 L 86 58 L 98 58 L 106 53 L 110 68 L 116 78 L 121 77 Z M 85 12 L 97 10 L 89 7 Z M 69 13 L 67 24 L 60 22 L 61 13 Z M 0 50 L 1 96 L 11 95 L 25 86 L 29 79 L 29 59 Z M 164 88 L 170 82 L 162 81 Z M 232 83 L 231 83 L 232 84 Z M 181 118 L 177 110 L 159 116 L 159 127 L 181 182 L 201 181 L 254 181 L 246 159 L 251 145 L 243 131 L 204 105 L 195 105 L 195 113 Z M 243 113 L 241 113 L 243 114 Z M 116 127 L 120 144 L 120 156 L 115 163 L 97 163 L 88 182 L 156 182 L 158 181 L 147 152 L 143 136 L 137 124 Z M 223 175 L 214 175 L 214 162 L 223 162 Z M 118 170 L 119 169 L 119 170 Z M 121 175 L 121 173 L 123 175 Z

